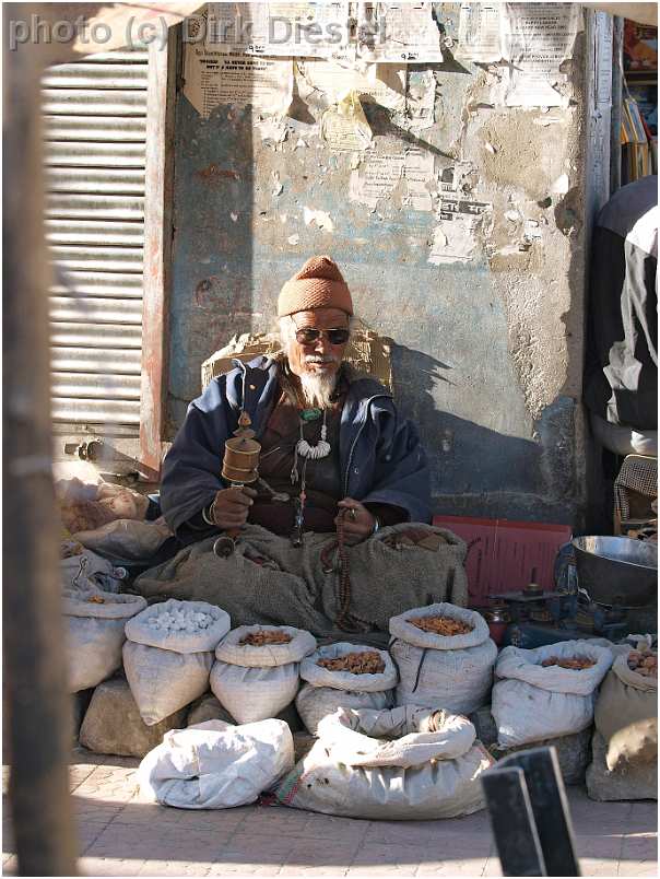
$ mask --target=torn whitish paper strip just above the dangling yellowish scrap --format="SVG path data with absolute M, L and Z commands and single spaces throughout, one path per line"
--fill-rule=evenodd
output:
M 392 110 L 405 108 L 405 68 L 394 65 L 369 65 L 366 71 L 342 67 L 337 61 L 310 59 L 297 65 L 298 85 L 303 97 L 309 91 L 322 92 L 334 104 L 342 94 L 354 90 L 361 97 L 368 96 L 375 104 Z

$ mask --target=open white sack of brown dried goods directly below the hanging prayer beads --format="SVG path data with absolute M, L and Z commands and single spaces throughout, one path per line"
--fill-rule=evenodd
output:
M 300 678 L 306 683 L 296 696 L 296 708 L 307 731 L 316 736 L 323 717 L 339 707 L 391 707 L 398 675 L 387 651 L 339 642 L 304 659 Z

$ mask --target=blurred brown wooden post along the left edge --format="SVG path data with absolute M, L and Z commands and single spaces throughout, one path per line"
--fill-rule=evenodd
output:
M 9 21 L 30 22 L 21 3 Z M 48 260 L 44 238 L 40 52 L 4 51 L 3 429 L 5 729 L 19 872 L 72 876 L 70 705 L 51 473 Z

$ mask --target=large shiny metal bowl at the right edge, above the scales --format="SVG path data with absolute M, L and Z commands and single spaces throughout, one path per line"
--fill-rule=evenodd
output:
M 658 546 L 629 537 L 576 537 L 578 582 L 599 605 L 640 608 L 658 597 Z

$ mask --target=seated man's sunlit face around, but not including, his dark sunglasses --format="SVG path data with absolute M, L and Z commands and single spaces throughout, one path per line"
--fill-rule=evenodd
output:
M 288 344 L 288 365 L 295 375 L 329 376 L 337 374 L 346 350 L 347 340 L 332 344 L 327 330 L 349 329 L 349 315 L 340 308 L 318 308 L 291 315 L 296 330 L 323 330 L 309 342 L 293 339 Z M 298 335 L 300 335 L 298 332 Z

